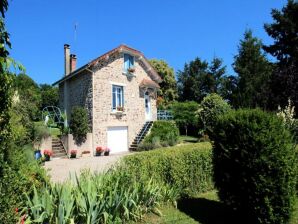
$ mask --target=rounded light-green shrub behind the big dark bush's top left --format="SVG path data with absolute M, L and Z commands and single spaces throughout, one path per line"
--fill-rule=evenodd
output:
M 218 116 L 228 112 L 230 109 L 230 105 L 221 96 L 211 93 L 202 100 L 197 115 L 204 126 L 204 130 L 212 129 Z

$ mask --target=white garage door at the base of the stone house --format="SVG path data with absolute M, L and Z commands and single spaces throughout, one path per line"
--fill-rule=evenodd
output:
M 108 147 L 111 153 L 127 152 L 127 127 L 108 128 Z

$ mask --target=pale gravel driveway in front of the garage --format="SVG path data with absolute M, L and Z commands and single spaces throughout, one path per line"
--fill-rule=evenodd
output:
M 110 156 L 82 157 L 78 159 L 54 159 L 45 163 L 53 182 L 64 182 L 70 175 L 79 174 L 82 169 L 90 169 L 92 172 L 103 172 L 116 164 L 120 158 L 131 153 L 122 153 Z

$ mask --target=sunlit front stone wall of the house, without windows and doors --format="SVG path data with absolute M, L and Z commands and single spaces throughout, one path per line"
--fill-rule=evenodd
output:
M 128 78 L 123 73 L 123 53 L 115 53 L 94 68 L 93 77 L 93 143 L 107 145 L 107 129 L 113 126 L 128 127 L 130 145 L 145 124 L 144 93 L 139 88 L 144 78 L 150 79 L 142 64 L 135 58 L 135 77 Z M 112 112 L 112 86 L 123 86 L 124 109 L 122 116 Z M 152 120 L 156 120 L 156 99 L 151 97 Z M 113 150 L 113 149 L 111 149 Z

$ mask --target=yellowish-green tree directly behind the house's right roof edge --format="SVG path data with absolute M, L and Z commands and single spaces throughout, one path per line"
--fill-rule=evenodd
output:
M 174 69 L 164 60 L 151 59 L 150 64 L 162 78 L 158 96 L 163 99 L 164 105 L 168 105 L 178 98 Z

